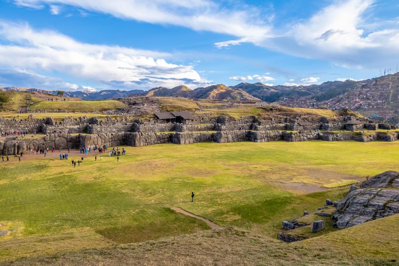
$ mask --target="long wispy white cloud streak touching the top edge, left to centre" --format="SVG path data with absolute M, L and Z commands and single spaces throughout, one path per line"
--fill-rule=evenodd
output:
M 171 24 L 193 30 L 234 35 L 250 41 L 269 31 L 258 7 L 241 5 L 227 9 L 212 0 L 14 0 L 18 5 L 43 8 L 46 4 L 71 5 L 78 9 L 111 14 L 154 24 Z M 218 47 L 237 45 L 240 41 L 219 43 Z

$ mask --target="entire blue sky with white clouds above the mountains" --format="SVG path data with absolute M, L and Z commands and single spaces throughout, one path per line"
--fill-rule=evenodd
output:
M 398 64 L 398 0 L 0 0 L 0 86 L 299 86 Z

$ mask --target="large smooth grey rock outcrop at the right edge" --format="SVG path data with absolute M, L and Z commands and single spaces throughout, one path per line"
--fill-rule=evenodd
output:
M 333 219 L 347 228 L 399 213 L 399 172 L 387 171 L 352 190 L 338 204 Z

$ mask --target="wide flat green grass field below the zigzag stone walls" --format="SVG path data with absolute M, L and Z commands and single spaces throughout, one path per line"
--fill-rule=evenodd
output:
M 127 147 L 87 157 L 0 164 L 0 260 L 199 232 L 206 224 L 275 237 L 281 221 L 340 200 L 348 187 L 399 170 L 399 142 L 238 142 Z M 350 160 L 348 159 L 350 158 Z M 11 158 L 12 159 L 12 158 Z M 336 188 L 330 188 L 336 187 Z M 191 203 L 191 192 L 196 202 Z M 0 230 L 1 229 L 0 227 Z

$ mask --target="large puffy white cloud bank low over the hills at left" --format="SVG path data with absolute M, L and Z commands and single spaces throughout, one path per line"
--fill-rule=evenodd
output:
M 148 89 L 148 84 L 174 87 L 207 84 L 193 66 L 168 63 L 171 55 L 128 47 L 78 42 L 54 31 L 0 21 L 0 67 L 66 73 L 108 85 L 119 81 Z M 142 83 L 147 79 L 146 84 Z M 90 88 L 87 88 L 90 89 Z

